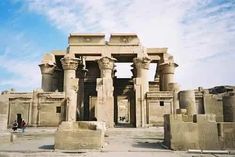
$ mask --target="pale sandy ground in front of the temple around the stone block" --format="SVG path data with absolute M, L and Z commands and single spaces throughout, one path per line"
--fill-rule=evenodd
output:
M 14 132 L 13 143 L 0 143 L 0 157 L 235 157 L 228 154 L 190 154 L 162 146 L 163 128 L 113 128 L 107 131 L 101 151 L 60 152 L 54 150 L 56 128 L 27 128 Z M 1 141 L 0 141 L 1 142 Z

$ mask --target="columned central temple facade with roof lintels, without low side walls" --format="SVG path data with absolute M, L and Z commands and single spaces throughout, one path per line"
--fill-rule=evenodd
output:
M 118 78 L 117 63 L 131 63 L 132 77 Z M 157 65 L 151 82 L 150 64 Z M 104 34 L 70 34 L 67 50 L 46 54 L 39 66 L 43 91 L 65 93 L 67 120 L 144 127 L 162 124 L 178 106 L 178 65 L 166 48 L 145 48 L 136 34 L 111 34 L 108 41 Z

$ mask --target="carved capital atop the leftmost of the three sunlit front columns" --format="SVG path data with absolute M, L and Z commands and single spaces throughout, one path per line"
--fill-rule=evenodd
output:
M 60 61 L 64 70 L 76 70 L 79 64 L 79 59 L 70 54 L 66 54 Z

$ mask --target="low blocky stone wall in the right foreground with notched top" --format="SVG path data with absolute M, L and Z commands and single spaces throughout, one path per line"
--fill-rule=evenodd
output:
M 234 149 L 235 122 L 216 122 L 213 114 L 164 115 L 164 144 L 173 150 Z

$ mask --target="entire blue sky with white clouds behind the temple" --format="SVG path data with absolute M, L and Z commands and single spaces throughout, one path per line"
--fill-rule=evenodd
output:
M 42 55 L 65 49 L 71 32 L 134 32 L 168 47 L 182 89 L 235 85 L 233 0 L 2 0 L 0 91 L 40 88 Z

